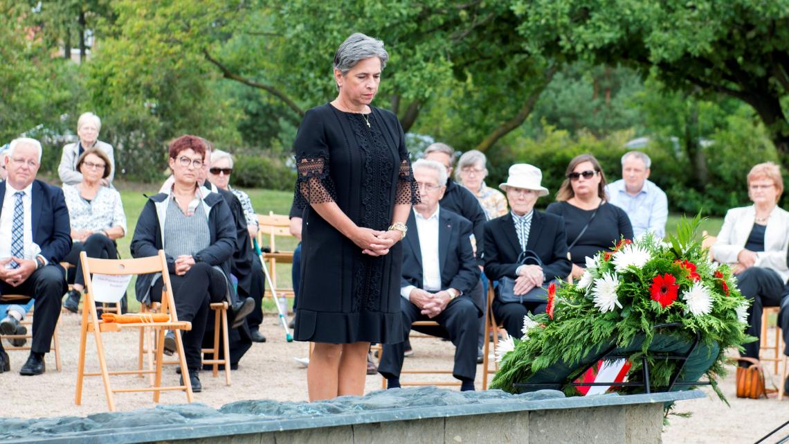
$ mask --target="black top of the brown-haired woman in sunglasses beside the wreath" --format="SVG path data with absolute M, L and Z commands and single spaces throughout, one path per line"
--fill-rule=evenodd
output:
M 564 226 L 567 228 L 567 245 L 574 242 L 583 230 L 594 209 L 580 209 L 567 202 L 553 202 L 545 209 L 546 213 L 553 213 L 564 217 Z M 625 211 L 616 205 L 603 202 L 594 216 L 589 228 L 570 250 L 570 258 L 575 265 L 585 266 L 586 257 L 594 257 L 598 251 L 609 250 L 619 239 L 633 239 L 633 226 Z

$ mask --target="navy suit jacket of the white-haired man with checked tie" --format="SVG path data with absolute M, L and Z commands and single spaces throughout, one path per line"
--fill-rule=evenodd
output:
M 30 194 L 33 242 L 41 247 L 41 255 L 50 264 L 60 267 L 71 251 L 71 221 L 63 190 L 36 179 Z M 6 181 L 3 181 L 0 182 L 0 212 L 5 198 Z

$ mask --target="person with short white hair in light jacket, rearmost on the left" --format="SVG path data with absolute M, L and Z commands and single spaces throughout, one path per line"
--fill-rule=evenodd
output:
M 77 167 L 77 161 L 86 149 L 100 149 L 107 156 L 107 165 L 110 175 L 101 179 L 103 186 L 111 186 L 115 172 L 115 157 L 112 145 L 99 141 L 99 131 L 101 131 L 101 119 L 92 112 L 80 115 L 77 120 L 77 136 L 80 140 L 77 143 L 69 143 L 63 147 L 63 154 L 58 166 L 58 175 L 63 185 L 77 185 L 82 182 L 82 173 Z

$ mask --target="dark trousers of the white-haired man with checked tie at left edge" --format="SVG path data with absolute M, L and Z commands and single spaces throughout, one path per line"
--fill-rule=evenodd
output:
M 66 288 L 62 269 L 55 265 L 47 265 L 37 269 L 17 287 L 12 287 L 0 280 L 0 294 L 25 295 L 36 299 L 31 352 L 49 352 L 54 327 L 58 325 L 58 318 L 60 318 L 61 299 Z M 0 344 L 0 350 L 2 350 L 2 344 Z

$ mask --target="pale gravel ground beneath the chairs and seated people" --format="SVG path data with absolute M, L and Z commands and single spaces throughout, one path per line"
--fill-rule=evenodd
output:
M 307 355 L 307 344 L 285 341 L 282 328 L 273 315 L 267 315 L 261 331 L 268 338 L 265 344 L 254 344 L 247 352 L 237 371 L 232 373 L 232 386 L 225 386 L 222 373 L 218 378 L 202 372 L 200 381 L 203 392 L 195 393 L 195 401 L 219 407 L 232 401 L 269 398 L 277 401 L 305 401 L 307 399 L 306 370 L 294 357 Z M 133 331 L 108 333 L 104 336 L 110 370 L 122 367 L 136 368 L 138 335 Z M 86 416 L 107 411 L 101 378 L 88 378 L 84 385 L 81 405 L 74 404 L 74 387 L 77 380 L 77 354 L 79 348 L 79 318 L 64 313 L 61 317 L 60 340 L 63 370 L 54 366 L 54 354 L 47 355 L 47 372 L 41 376 L 24 377 L 19 368 L 27 359 L 27 352 L 10 352 L 11 372 L 0 374 L 6 395 L 4 415 L 17 417 Z M 414 355 L 406 359 L 406 366 L 451 369 L 454 348 L 448 342 L 434 338 L 412 340 Z M 95 344 L 88 337 L 88 371 L 98 369 Z M 477 389 L 481 389 L 482 366 L 477 367 Z M 680 443 L 741 443 L 756 442 L 773 428 L 789 420 L 789 398 L 778 401 L 776 397 L 761 400 L 742 400 L 735 397 L 734 372 L 724 379 L 722 387 L 731 402 L 731 408 L 718 400 L 712 390 L 705 389 L 707 397 L 682 401 L 679 412 L 689 412 L 690 418 L 672 416 L 671 424 L 664 429 L 664 442 Z M 413 376 L 411 376 L 413 378 Z M 771 375 L 768 374 L 768 378 Z M 447 381 L 447 377 L 424 376 L 428 381 Z M 404 376 L 403 381 L 407 380 Z M 778 383 L 780 376 L 772 375 Z M 449 377 L 451 381 L 452 378 Z M 147 380 L 135 375 L 116 376 L 110 379 L 114 388 L 144 386 Z M 174 368 L 166 368 L 163 382 L 178 383 Z M 366 390 L 380 389 L 380 376 L 368 376 Z M 457 389 L 457 388 L 453 388 Z M 133 410 L 153 406 L 151 393 L 118 393 L 115 403 L 119 410 Z M 10 402 L 8 402 L 10 401 Z M 163 393 L 163 403 L 182 403 L 182 393 Z M 785 427 L 766 443 L 778 442 L 777 436 L 789 435 Z

